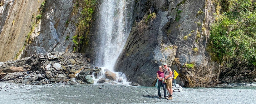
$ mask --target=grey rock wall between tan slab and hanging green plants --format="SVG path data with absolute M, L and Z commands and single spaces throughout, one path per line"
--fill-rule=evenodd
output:
M 22 58 L 37 53 L 73 50 L 72 37 L 75 35 L 77 18 L 71 15 L 73 0 L 47 0 L 45 5 L 41 24 L 38 25 L 41 31 L 38 35 L 32 35 L 32 43 L 26 46 Z

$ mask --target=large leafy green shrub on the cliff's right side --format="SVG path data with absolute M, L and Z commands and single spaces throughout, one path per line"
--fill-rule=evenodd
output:
M 221 63 L 224 75 L 255 77 L 256 3 L 251 0 L 228 3 L 211 26 L 208 50 Z

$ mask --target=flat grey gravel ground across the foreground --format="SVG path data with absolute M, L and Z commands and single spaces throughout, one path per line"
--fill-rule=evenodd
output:
M 0 87 L 7 83 L 0 82 Z M 7 84 L 9 85 L 9 84 Z M 11 86 L 11 85 L 9 85 Z M 9 87 L 11 88 L 11 87 Z M 1 89 L 1 88 L 0 88 Z M 3 89 L 2 89 L 3 90 Z M 88 104 L 88 103 L 179 103 L 179 104 L 255 104 L 256 87 L 184 88 L 172 100 L 158 99 L 155 87 L 125 85 L 12 85 L 0 90 L 0 104 Z M 162 92 L 163 93 L 163 92 Z

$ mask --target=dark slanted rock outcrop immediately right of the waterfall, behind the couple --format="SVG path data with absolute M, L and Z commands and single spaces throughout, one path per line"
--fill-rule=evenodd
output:
M 128 80 L 143 86 L 152 85 L 158 66 L 164 62 L 171 64 L 176 55 L 176 47 L 164 31 L 170 24 L 171 17 L 168 16 L 168 11 L 159 11 L 157 14 L 148 24 L 145 23 L 145 15 L 132 29 L 125 50 L 116 64 L 117 72 L 125 73 Z

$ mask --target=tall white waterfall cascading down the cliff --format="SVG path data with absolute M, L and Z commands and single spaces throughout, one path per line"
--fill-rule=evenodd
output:
M 97 79 L 105 77 L 104 69 L 114 72 L 114 65 L 121 53 L 132 24 L 134 0 L 103 0 L 100 7 L 99 45 L 96 49 L 95 65 L 102 68 Z M 124 73 L 115 72 L 118 78 L 126 81 Z M 97 80 L 96 79 L 96 80 Z M 96 81 L 95 80 L 95 81 Z

